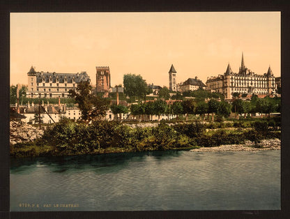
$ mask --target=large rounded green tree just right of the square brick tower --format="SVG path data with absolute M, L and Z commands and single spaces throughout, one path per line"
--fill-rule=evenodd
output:
M 126 74 L 123 76 L 124 93 L 130 98 L 145 99 L 150 89 L 141 75 Z

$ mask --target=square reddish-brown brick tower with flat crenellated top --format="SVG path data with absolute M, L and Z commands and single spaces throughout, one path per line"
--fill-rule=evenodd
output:
M 96 66 L 96 91 L 104 93 L 104 98 L 109 97 L 111 75 L 109 66 Z

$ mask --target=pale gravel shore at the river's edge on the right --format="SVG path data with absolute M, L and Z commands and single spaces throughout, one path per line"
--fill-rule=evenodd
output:
M 255 144 L 251 141 L 246 141 L 245 144 L 226 144 L 213 147 L 201 147 L 199 149 L 192 149 L 192 152 L 211 152 L 211 151 L 266 151 L 266 150 L 280 150 L 280 139 L 264 139 L 260 143 Z

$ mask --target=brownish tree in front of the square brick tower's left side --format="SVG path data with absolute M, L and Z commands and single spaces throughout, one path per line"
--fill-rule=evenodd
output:
M 68 93 L 70 98 L 75 98 L 75 103 L 79 105 L 84 121 L 100 119 L 109 110 L 109 100 L 94 96 L 89 82 L 79 82 L 77 92 L 71 89 Z

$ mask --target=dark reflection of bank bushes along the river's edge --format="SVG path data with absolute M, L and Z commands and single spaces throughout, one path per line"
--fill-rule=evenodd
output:
M 181 156 L 182 153 L 183 151 L 144 151 L 82 156 L 11 158 L 10 173 L 28 174 L 36 171 L 38 167 L 47 167 L 49 171 L 60 174 L 69 174 L 85 169 L 103 174 L 104 172 L 119 172 L 127 167 L 128 163 L 142 162 L 147 157 L 161 161 L 176 158 Z

